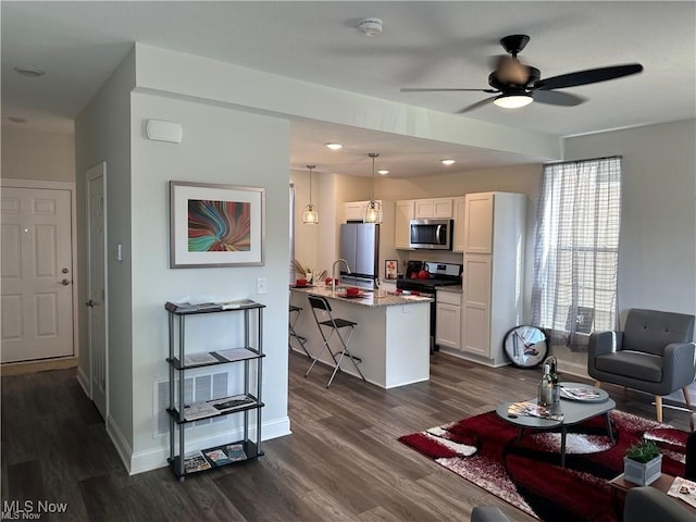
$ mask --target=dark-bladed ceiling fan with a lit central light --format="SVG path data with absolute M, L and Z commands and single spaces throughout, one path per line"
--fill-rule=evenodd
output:
M 518 60 L 518 53 L 524 49 L 529 41 L 530 37 L 527 35 L 511 35 L 500 39 L 500 45 L 510 55 L 501 55 L 498 58 L 496 70 L 488 75 L 488 85 L 493 87 L 490 89 L 402 88 L 401 92 L 475 91 L 495 95 L 485 100 L 472 103 L 457 111 L 458 113 L 477 109 L 489 102 L 494 102 L 496 105 L 505 109 L 517 109 L 532 103 L 532 101 L 551 105 L 574 107 L 583 103 L 586 99 L 568 92 L 559 92 L 555 89 L 596 84 L 643 71 L 643 65 L 639 63 L 630 63 L 625 65 L 576 71 L 574 73 L 542 79 L 542 73 L 538 69 L 524 65 Z

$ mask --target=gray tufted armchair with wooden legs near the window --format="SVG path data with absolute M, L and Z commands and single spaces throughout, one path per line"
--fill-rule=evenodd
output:
M 655 396 L 662 422 L 662 396 L 682 388 L 691 407 L 688 386 L 696 374 L 694 315 L 634 308 L 623 332 L 595 332 L 589 336 L 587 373 L 597 381 L 618 384 Z

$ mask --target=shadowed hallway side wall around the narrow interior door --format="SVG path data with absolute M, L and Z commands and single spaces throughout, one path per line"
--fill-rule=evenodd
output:
M 119 69 L 75 120 L 75 159 L 77 184 L 77 274 L 82 282 L 79 302 L 87 300 L 87 216 L 85 215 L 88 169 L 107 162 L 107 246 L 113 252 L 116 243 L 126 251 L 130 245 L 130 107 L 129 92 L 135 85 L 135 55 L 126 57 Z M 109 345 L 107 428 L 121 457 L 133 448 L 132 352 L 132 262 L 107 258 L 107 341 Z M 79 307 L 79 376 L 88 386 L 90 355 L 87 350 L 87 309 Z

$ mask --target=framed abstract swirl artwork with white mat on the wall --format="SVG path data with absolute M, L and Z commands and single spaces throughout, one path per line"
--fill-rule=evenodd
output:
M 170 268 L 264 263 L 265 189 L 170 182 Z

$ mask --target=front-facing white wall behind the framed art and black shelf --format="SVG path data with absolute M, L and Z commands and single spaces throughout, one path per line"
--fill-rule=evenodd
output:
M 288 252 L 289 123 L 210 104 L 134 94 L 132 96 L 133 244 L 133 394 L 134 460 L 165 446 L 166 437 L 152 437 L 153 382 L 167 377 L 165 301 L 251 298 L 263 304 L 264 438 L 288 433 L 287 333 L 285 331 Z M 181 144 L 150 141 L 144 136 L 148 119 L 182 124 Z M 265 264 L 263 266 L 169 269 L 169 182 L 185 181 L 265 189 Z M 268 294 L 256 294 L 256 279 L 268 279 Z M 200 319 L 200 318 L 197 318 Z M 191 334 L 187 349 L 229 348 L 231 314 L 207 318 L 204 336 Z M 200 321 L 202 323 L 202 321 Z M 192 318 L 187 321 L 196 327 Z M 283 324 L 283 328 L 277 325 Z M 219 328 L 219 330 L 215 330 Z M 195 331 L 194 331 L 195 332 Z M 239 393 L 237 389 L 236 393 Z M 233 420 L 232 418 L 229 419 Z M 227 426 L 229 428 L 229 426 Z M 212 430 L 210 435 L 214 436 Z M 196 438 L 204 438 L 191 431 Z M 137 465 L 134 465 L 137 468 Z

